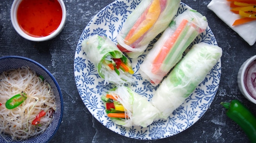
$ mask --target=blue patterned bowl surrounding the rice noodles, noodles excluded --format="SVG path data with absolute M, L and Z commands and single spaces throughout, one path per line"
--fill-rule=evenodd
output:
M 45 67 L 43 67 L 43 65 L 22 56 L 0 57 L 0 65 L 0 74 L 9 69 L 17 69 L 22 66 L 28 66 L 38 75 L 42 75 L 45 80 L 51 85 L 56 100 L 56 111 L 53 114 L 53 120 L 44 132 L 22 141 L 11 140 L 11 136 L 8 135 L 7 137 L 5 137 L 5 139 L 0 136 L 0 143 L 49 143 L 52 137 L 56 134 L 63 116 L 63 96 L 57 81 L 55 80 L 53 75 Z M 6 140 L 8 140 L 8 142 L 6 142 Z

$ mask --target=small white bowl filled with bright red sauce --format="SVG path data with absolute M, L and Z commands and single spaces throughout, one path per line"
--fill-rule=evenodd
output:
M 65 4 L 63 0 L 14 0 L 11 22 L 23 38 L 47 41 L 56 37 L 65 26 Z

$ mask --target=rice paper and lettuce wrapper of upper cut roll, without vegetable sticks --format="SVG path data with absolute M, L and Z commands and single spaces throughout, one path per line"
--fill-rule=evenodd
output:
M 120 74 L 118 75 L 115 70 L 108 71 L 103 66 L 102 63 L 105 58 L 121 58 L 123 56 L 123 53 L 117 48 L 115 43 L 107 37 L 100 37 L 99 35 L 89 37 L 82 42 L 82 49 L 90 62 L 97 68 L 99 76 L 105 79 L 104 84 L 112 82 L 120 85 L 133 82 L 132 75 L 129 73 L 119 70 Z M 127 61 L 131 65 L 130 61 Z

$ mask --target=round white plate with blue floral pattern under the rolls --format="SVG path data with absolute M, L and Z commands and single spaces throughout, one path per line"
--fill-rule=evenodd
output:
M 113 85 L 103 85 L 103 79 L 99 77 L 96 68 L 88 60 L 83 50 L 81 50 L 81 43 L 84 39 L 95 34 L 107 36 L 113 42 L 117 43 L 116 36 L 118 32 L 121 30 L 127 16 L 135 9 L 140 1 L 141 0 L 117 0 L 106 6 L 94 16 L 83 30 L 77 44 L 74 57 L 74 76 L 81 99 L 88 110 L 99 122 L 101 122 L 101 124 L 118 134 L 134 139 L 162 139 L 186 130 L 198 121 L 198 119 L 200 119 L 200 117 L 207 111 L 219 86 L 221 63 L 219 60 L 204 81 L 198 85 L 189 98 L 187 98 L 187 100 L 177 108 L 168 119 L 153 122 L 153 124 L 146 128 L 126 128 L 113 124 L 107 117 L 105 108 L 101 102 L 101 93 L 111 89 Z M 181 2 L 177 15 L 188 9 L 191 8 Z M 152 45 L 156 40 L 157 38 L 150 43 L 148 50 L 152 48 Z M 191 45 L 199 42 L 217 45 L 216 39 L 209 27 L 205 32 L 200 34 Z M 136 83 L 133 84 L 131 88 L 150 100 L 157 87 L 153 87 L 150 82 L 142 79 L 138 73 L 139 65 L 143 62 L 148 50 L 144 55 L 139 56 L 138 59 L 132 59 L 132 67 L 135 71 L 133 76 Z

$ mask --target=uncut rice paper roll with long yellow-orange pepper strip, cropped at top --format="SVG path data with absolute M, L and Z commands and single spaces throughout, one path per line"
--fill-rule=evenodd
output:
M 119 49 L 137 58 L 168 27 L 179 5 L 180 0 L 142 0 L 117 35 Z

